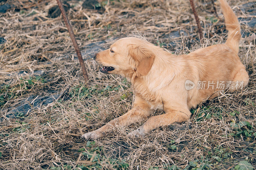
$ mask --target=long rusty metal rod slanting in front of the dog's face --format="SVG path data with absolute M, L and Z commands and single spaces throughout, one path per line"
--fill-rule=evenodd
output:
M 72 40 L 73 45 L 74 45 L 74 48 L 76 50 L 76 54 L 78 56 L 78 60 L 79 60 L 79 63 L 81 65 L 81 68 L 82 68 L 82 71 L 83 71 L 84 80 L 85 80 L 86 83 L 89 83 L 89 78 L 88 78 L 88 75 L 87 75 L 87 71 L 85 69 L 84 60 L 83 60 L 83 57 L 81 55 L 80 49 L 78 47 L 78 44 L 76 42 L 76 38 L 75 38 L 74 32 L 73 32 L 73 30 L 71 28 L 71 25 L 69 23 L 68 17 L 66 15 L 66 12 L 65 12 L 64 7 L 63 7 L 63 4 L 62 4 L 61 0 L 56 0 L 56 1 L 57 1 L 58 5 L 59 5 L 60 12 L 61 12 L 61 14 L 63 16 L 65 24 L 66 24 L 66 26 L 68 28 L 68 33 L 69 33 L 69 35 L 71 37 L 71 40 Z

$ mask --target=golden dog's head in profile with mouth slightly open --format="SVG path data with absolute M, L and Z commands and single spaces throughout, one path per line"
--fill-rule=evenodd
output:
M 135 37 L 122 38 L 110 48 L 94 54 L 103 73 L 127 76 L 136 72 L 146 76 L 155 59 L 154 45 Z

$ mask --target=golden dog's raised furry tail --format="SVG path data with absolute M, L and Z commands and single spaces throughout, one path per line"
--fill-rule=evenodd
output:
M 238 23 L 236 14 L 228 5 L 227 1 L 219 0 L 219 2 L 225 18 L 226 29 L 228 30 L 228 39 L 225 44 L 227 44 L 228 47 L 233 49 L 237 54 L 239 50 L 238 45 L 241 38 L 240 24 Z

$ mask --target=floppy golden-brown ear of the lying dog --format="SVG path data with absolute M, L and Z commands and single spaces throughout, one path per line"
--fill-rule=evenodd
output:
M 151 69 L 156 56 L 152 49 L 143 46 L 130 45 L 129 55 L 135 61 L 135 69 L 137 73 L 146 76 Z

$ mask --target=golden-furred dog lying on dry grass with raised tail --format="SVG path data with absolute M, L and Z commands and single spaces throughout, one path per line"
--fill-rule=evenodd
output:
M 191 108 L 216 98 L 220 90 L 245 87 L 249 75 L 237 55 L 240 25 L 227 1 L 219 2 L 228 30 L 225 44 L 173 55 L 148 41 L 126 37 L 94 54 L 102 73 L 118 74 L 132 83 L 134 102 L 130 111 L 82 138 L 96 139 L 114 126 L 143 121 L 128 136 L 145 136 L 152 129 L 188 120 Z M 148 118 L 154 109 L 164 114 Z

